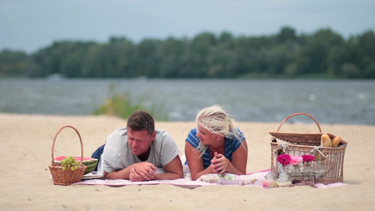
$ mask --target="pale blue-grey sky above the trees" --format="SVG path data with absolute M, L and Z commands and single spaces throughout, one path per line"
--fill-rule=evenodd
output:
M 36 52 L 53 41 L 261 36 L 330 28 L 345 39 L 375 32 L 374 0 L 0 0 L 0 51 Z

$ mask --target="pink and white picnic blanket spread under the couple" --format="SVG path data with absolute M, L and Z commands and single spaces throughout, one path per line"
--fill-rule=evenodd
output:
M 130 181 L 128 179 L 87 179 L 75 183 L 75 185 L 105 185 L 105 186 L 128 186 L 128 185 L 155 185 L 155 184 L 171 184 L 174 186 L 180 186 L 184 188 L 198 188 L 200 186 L 258 186 L 262 188 L 262 180 L 265 179 L 265 175 L 270 172 L 270 169 L 262 170 L 259 172 L 253 172 L 246 175 L 235 175 L 235 174 L 206 174 L 197 179 L 196 181 L 191 180 L 189 167 L 184 167 L 184 179 L 172 179 L 172 180 L 153 180 L 153 181 Z M 87 174 L 87 177 L 92 175 Z M 338 182 L 334 184 L 314 184 L 312 182 L 301 182 L 298 184 L 292 184 L 291 186 L 312 186 L 314 188 L 331 188 L 336 186 L 346 185 Z

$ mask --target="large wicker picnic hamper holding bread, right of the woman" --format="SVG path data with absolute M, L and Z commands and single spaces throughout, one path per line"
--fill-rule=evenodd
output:
M 319 133 L 279 132 L 284 122 L 295 115 L 307 115 L 310 117 L 317 124 Z M 276 160 L 277 155 L 280 153 L 288 153 L 289 155 L 317 155 L 317 153 L 321 153 L 326 158 L 321 161 L 317 160 L 312 162 L 312 170 L 314 174 L 310 175 L 313 180 L 309 179 L 309 181 L 322 184 L 343 182 L 343 162 L 345 149 L 348 143 L 341 140 L 337 147 L 321 147 L 322 134 L 328 134 L 331 139 L 335 136 L 329 133 L 322 133 L 322 129 L 314 117 L 308 115 L 307 113 L 295 113 L 293 115 L 289 115 L 283 122 L 281 122 L 277 132 L 269 132 L 269 134 L 274 136 L 276 139 L 286 141 L 283 143 L 271 142 L 271 170 L 275 177 L 277 177 L 279 171 L 281 170 L 281 165 Z M 305 167 L 305 165 L 298 166 L 301 172 L 303 172 Z M 301 181 L 304 180 L 302 174 L 292 179 Z

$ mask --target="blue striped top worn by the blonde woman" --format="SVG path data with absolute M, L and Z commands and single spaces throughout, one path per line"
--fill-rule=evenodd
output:
M 189 132 L 189 134 L 186 138 L 186 141 L 188 141 L 191 144 L 191 146 L 193 146 L 193 148 L 197 149 L 198 145 L 199 145 L 199 142 L 200 142 L 200 139 L 196 136 L 196 134 L 197 134 L 196 131 L 197 131 L 196 128 L 191 129 L 191 131 Z M 243 133 L 241 132 L 241 130 L 237 129 L 237 131 L 239 132 L 239 137 L 240 137 L 241 140 L 229 139 L 227 137 L 224 137 L 224 144 L 225 144 L 224 156 L 229 161 L 231 161 L 231 155 L 241 146 L 242 141 L 245 139 L 245 136 L 243 136 Z M 206 169 L 211 165 L 212 158 L 210 157 L 210 151 L 206 150 L 203 153 L 202 157 L 203 157 L 203 165 Z M 186 160 L 185 164 L 188 165 L 187 160 Z

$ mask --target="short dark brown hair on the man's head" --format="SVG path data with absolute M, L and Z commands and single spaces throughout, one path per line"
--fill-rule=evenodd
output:
M 127 127 L 133 131 L 146 130 L 147 134 L 155 132 L 155 121 L 153 117 L 144 110 L 136 110 L 127 120 Z

